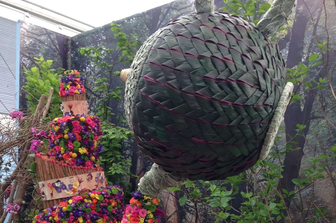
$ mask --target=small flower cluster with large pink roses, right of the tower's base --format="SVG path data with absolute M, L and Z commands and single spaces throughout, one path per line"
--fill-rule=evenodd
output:
M 160 216 L 165 213 L 158 208 L 160 199 L 151 198 L 141 193 L 133 192 L 132 198 L 126 205 L 126 210 L 122 219 L 122 223 L 157 223 L 160 222 Z

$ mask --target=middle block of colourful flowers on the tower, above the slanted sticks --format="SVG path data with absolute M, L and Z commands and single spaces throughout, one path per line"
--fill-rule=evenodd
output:
M 50 123 L 49 157 L 70 166 L 94 168 L 99 153 L 103 152 L 100 136 L 103 134 L 96 116 L 64 116 Z

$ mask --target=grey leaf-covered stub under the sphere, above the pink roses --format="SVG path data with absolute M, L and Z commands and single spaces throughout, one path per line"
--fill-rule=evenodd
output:
M 138 187 L 142 194 L 158 197 L 162 190 L 171 186 L 179 186 L 184 181 L 186 179 L 175 177 L 154 163 L 151 170 L 141 177 Z

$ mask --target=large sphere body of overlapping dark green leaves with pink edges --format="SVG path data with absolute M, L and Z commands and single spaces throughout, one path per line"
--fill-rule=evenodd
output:
M 278 45 L 226 13 L 182 16 L 159 34 L 138 81 L 139 148 L 176 177 L 224 179 L 258 159 L 285 86 Z

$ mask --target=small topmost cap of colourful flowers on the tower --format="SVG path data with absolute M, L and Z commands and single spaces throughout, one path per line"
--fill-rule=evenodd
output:
M 64 71 L 61 76 L 61 84 L 59 86 L 59 96 L 64 97 L 74 94 L 85 94 L 83 86 L 84 77 L 77 70 Z

